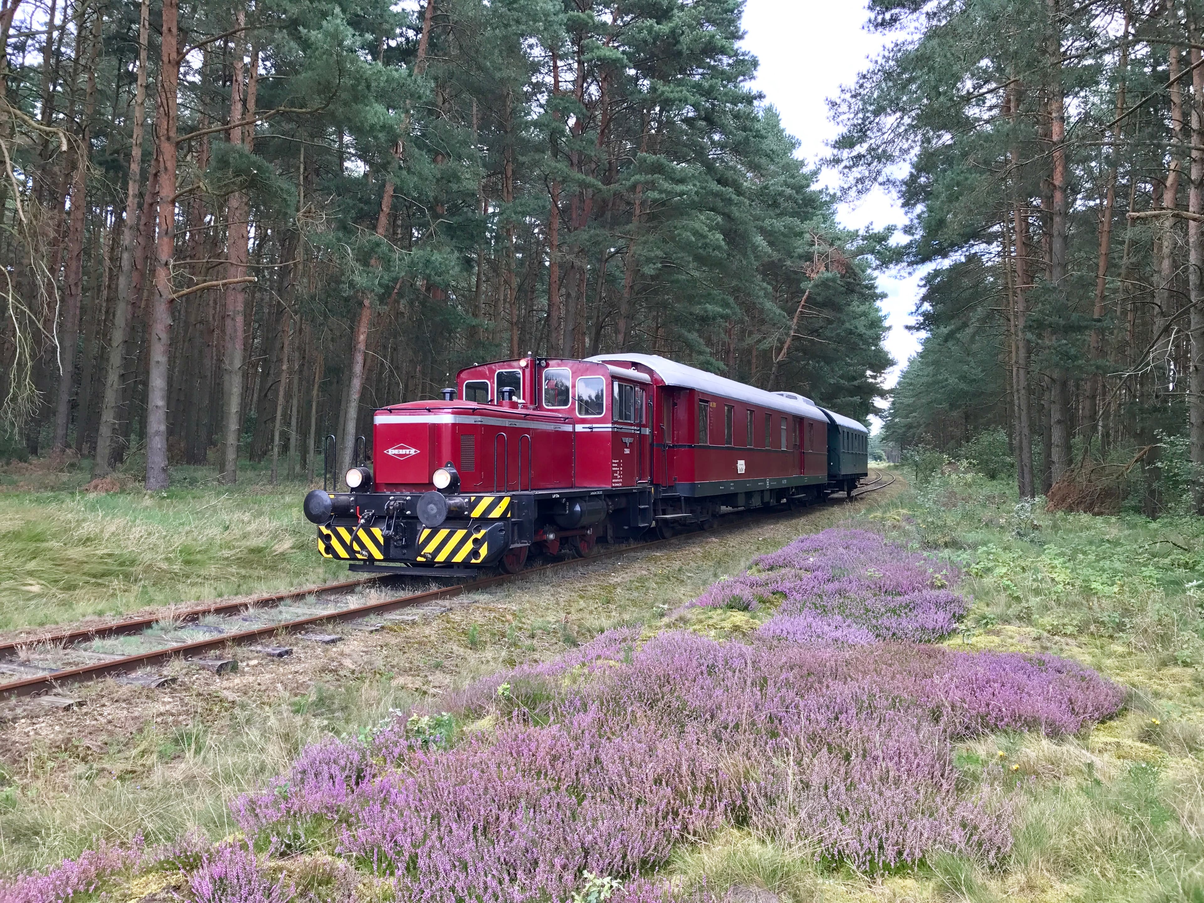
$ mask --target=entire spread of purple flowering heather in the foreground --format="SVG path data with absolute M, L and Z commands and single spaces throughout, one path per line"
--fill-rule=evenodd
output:
M 757 568 L 697 603 L 773 598 L 749 642 L 608 631 L 478 681 L 450 714 L 314 744 L 235 801 L 235 816 L 272 849 L 317 824 L 399 901 L 568 901 L 589 873 L 624 883 L 612 903 L 671 903 L 639 875 L 728 824 L 858 869 L 937 851 L 993 863 L 1011 844 L 1008 786 L 998 766 L 980 790 L 960 786 L 954 744 L 1073 733 L 1121 704 L 1119 687 L 1054 656 L 915 642 L 963 610 L 956 573 L 872 533 L 805 537 Z M 462 730 L 485 718 L 489 730 Z M 191 893 L 288 898 L 254 854 L 229 845 L 195 870 Z M 33 899 L 0 891 L 0 903 Z

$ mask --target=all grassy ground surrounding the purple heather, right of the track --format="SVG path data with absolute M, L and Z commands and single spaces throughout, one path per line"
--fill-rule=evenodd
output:
M 615 626 L 739 638 L 767 613 L 674 609 L 756 555 L 834 525 L 962 568 L 970 608 L 944 645 L 1079 661 L 1126 687 L 1125 708 L 1078 736 L 1005 732 L 956 749 L 967 792 L 988 762 L 1010 763 L 1016 779 L 1013 843 L 993 867 L 948 855 L 863 873 L 733 827 L 679 850 L 666 872 L 686 886 L 704 875 L 716 897 L 760 887 L 792 903 L 1204 899 L 1204 519 L 1051 514 L 972 473 L 901 479 L 851 503 L 537 576 L 380 633 L 341 628 L 343 642 L 297 643 L 283 662 L 237 650 L 240 669 L 222 677 L 177 663 L 183 679 L 167 691 L 81 687 L 82 708 L 0 732 L 0 873 L 101 838 L 160 843 L 190 826 L 228 837 L 230 799 L 285 773 L 307 744 L 362 737 L 391 712 L 437 708 L 476 678 Z

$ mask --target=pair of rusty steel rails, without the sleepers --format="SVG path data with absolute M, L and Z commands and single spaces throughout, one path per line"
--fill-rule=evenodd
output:
M 862 491 L 855 492 L 851 498 L 857 498 L 862 495 L 868 495 L 878 489 L 886 489 L 895 483 L 895 478 L 891 477 L 889 483 L 883 483 L 881 485 L 875 485 L 881 480 L 881 474 L 872 484 L 867 484 L 861 488 Z M 845 501 L 849 501 L 846 498 Z M 785 513 L 785 512 L 784 512 Z M 732 529 L 739 526 L 738 523 L 732 523 L 725 525 L 726 529 Z M 722 530 L 724 527 L 720 527 Z M 647 542 L 636 543 L 633 545 L 619 545 L 612 549 L 597 550 L 594 554 L 583 559 L 566 559 L 562 561 L 553 561 L 548 565 L 541 565 L 539 567 L 527 568 L 520 571 L 517 574 L 495 574 L 491 577 L 483 577 L 476 580 L 470 580 L 467 583 L 456 584 L 453 586 L 441 586 L 433 590 L 426 590 L 424 592 L 412 592 L 403 596 L 395 596 L 393 598 L 382 600 L 379 602 L 370 602 L 362 606 L 356 606 L 354 608 L 343 608 L 332 612 L 319 612 L 317 614 L 309 615 L 307 618 L 297 618 L 290 621 L 281 621 L 277 624 L 267 624 L 260 627 L 252 627 L 244 631 L 237 631 L 232 633 L 223 633 L 220 636 L 208 637 L 206 639 L 197 639 L 191 643 L 181 643 L 177 645 L 165 647 L 163 649 L 152 649 L 144 653 L 137 653 L 135 655 L 123 656 L 120 659 L 113 659 L 106 662 L 98 662 L 93 665 L 82 665 L 75 668 L 63 668 L 61 671 L 48 672 L 46 674 L 40 674 L 35 677 L 29 677 L 23 680 L 16 680 L 7 684 L 0 684 L 0 701 L 18 698 L 23 696 L 31 696 L 42 690 L 53 689 L 63 683 L 77 683 L 81 680 L 95 680 L 98 678 L 108 677 L 111 674 L 122 674 L 137 668 L 146 667 L 148 665 L 157 665 L 177 656 L 193 656 L 197 653 L 213 651 L 214 649 L 220 649 L 228 644 L 246 643 L 253 639 L 262 639 L 264 637 L 270 637 L 278 632 L 296 632 L 305 627 L 312 627 L 318 624 L 330 622 L 330 621 L 350 621 L 359 620 L 367 615 L 384 614 L 386 612 L 395 610 L 397 608 L 413 608 L 426 602 L 435 602 L 442 598 L 452 598 L 454 596 L 460 596 L 466 592 L 474 592 L 477 590 L 486 589 L 489 586 L 495 586 L 497 584 L 508 583 L 519 578 L 532 577 L 536 574 L 547 573 L 549 571 L 557 571 L 568 567 L 579 567 L 583 565 L 590 565 L 595 561 L 601 561 L 614 555 L 624 555 L 633 551 L 643 551 L 645 549 L 654 549 L 667 543 L 678 542 L 681 539 L 691 539 L 706 536 L 714 531 L 702 531 L 697 533 L 686 533 L 681 536 L 673 536 L 665 539 L 649 539 Z M 388 574 L 384 574 L 385 577 Z M 405 576 L 403 573 L 401 576 Z M 220 614 L 224 612 L 236 612 L 243 608 L 253 608 L 256 604 L 279 602 L 288 598 L 299 598 L 303 596 L 311 596 L 320 592 L 329 592 L 331 590 L 348 589 L 352 586 L 360 586 L 366 583 L 372 583 L 380 579 L 380 576 L 370 577 L 359 580 L 344 580 L 342 583 L 325 584 L 323 586 L 312 586 L 305 590 L 291 590 L 288 592 L 276 592 L 266 596 L 256 596 L 250 600 L 241 600 L 237 602 L 222 602 L 209 606 L 201 606 L 197 608 L 188 609 L 187 612 L 178 613 L 182 618 L 200 618 L 205 614 Z M 75 630 L 67 633 L 31 638 L 29 641 L 23 641 L 18 643 L 6 643 L 0 645 L 0 653 L 16 651 L 19 647 L 30 645 L 34 643 L 54 643 L 54 644 L 67 644 L 71 642 L 77 642 L 79 639 L 90 639 L 100 636 L 119 636 L 136 633 L 146 627 L 153 626 L 154 624 L 164 620 L 163 615 L 154 618 L 138 618 L 130 619 L 126 621 L 119 621 L 112 625 L 101 625 L 93 628 Z

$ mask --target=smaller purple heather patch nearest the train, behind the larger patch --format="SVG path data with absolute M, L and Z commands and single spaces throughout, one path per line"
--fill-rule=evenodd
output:
M 779 602 L 757 633 L 793 643 L 939 639 L 964 614 L 956 569 L 862 530 L 803 536 L 720 580 L 694 604 L 752 610 Z

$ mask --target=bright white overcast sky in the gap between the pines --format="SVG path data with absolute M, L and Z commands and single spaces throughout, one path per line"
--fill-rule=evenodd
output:
M 756 88 L 781 113 L 786 130 L 802 142 L 799 155 L 818 161 L 828 153 L 837 132 L 828 118 L 827 99 L 852 84 L 857 72 L 884 47 L 880 35 L 866 31 L 863 0 L 746 0 L 744 47 L 761 60 Z M 838 188 L 834 173 L 824 184 Z M 857 203 L 839 206 L 840 224 L 861 229 L 873 224 L 902 225 L 903 211 L 887 195 L 874 193 Z M 895 385 L 903 364 L 919 349 L 904 326 L 919 296 L 919 277 L 905 272 L 878 278 L 886 294 L 881 302 L 891 327 L 886 349 L 897 365 L 887 377 Z

